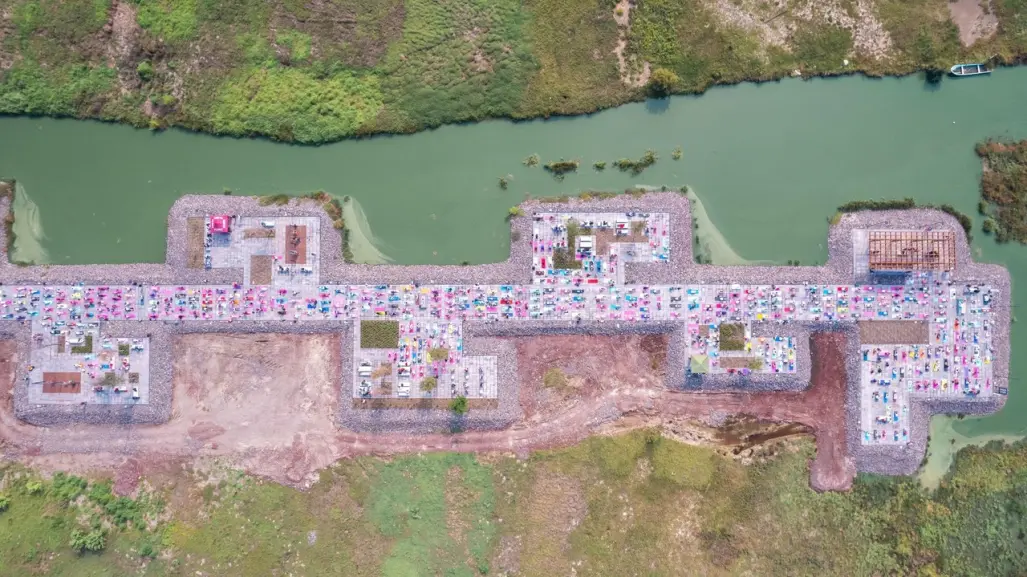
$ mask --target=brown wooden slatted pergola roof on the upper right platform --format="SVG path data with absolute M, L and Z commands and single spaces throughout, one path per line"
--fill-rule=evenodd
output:
M 952 271 L 956 268 L 956 235 L 951 230 L 872 230 L 872 271 Z

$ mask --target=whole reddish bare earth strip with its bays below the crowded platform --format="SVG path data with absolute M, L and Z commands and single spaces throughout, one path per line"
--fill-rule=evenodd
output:
M 18 420 L 10 394 L 13 367 L 20 362 L 17 347 L 0 342 L 0 383 L 6 382 L 4 389 L 8 391 L 0 406 L 3 455 L 44 471 L 86 473 L 123 468 L 122 490 L 128 489 L 134 476 L 148 474 L 154 464 L 216 457 L 223 458 L 223 466 L 307 488 L 316 480 L 317 471 L 343 457 L 432 451 L 527 455 L 614 429 L 665 428 L 669 422 L 683 420 L 710 425 L 723 423 L 729 415 L 751 415 L 757 420 L 801 423 L 812 430 L 817 448 L 811 466 L 813 488 L 848 489 L 855 472 L 845 446 L 844 334 L 811 338 L 814 360 L 808 390 L 767 393 L 688 393 L 664 388 L 661 359 L 667 344 L 662 337 L 523 339 L 517 346 L 523 362 L 519 378 L 525 383 L 521 391 L 524 422 L 496 431 L 418 435 L 337 428 L 339 338 L 249 334 L 179 337 L 173 351 L 170 420 L 163 425 L 128 427 L 35 427 Z M 577 383 L 569 387 L 569 394 L 554 395 L 542 386 L 541 375 L 553 367 Z M 709 431 L 672 428 L 676 437 L 712 438 L 713 445 L 723 445 L 723 439 Z M 765 438 L 781 439 L 806 430 L 745 425 L 738 432 L 739 445 L 751 447 Z M 738 457 L 761 458 L 748 453 Z M 129 460 L 132 458 L 137 462 Z M 548 483 L 537 486 L 554 491 Z M 568 494 L 579 495 L 579 488 Z M 572 524 L 576 525 L 581 515 L 567 518 L 569 524 L 578 520 Z M 535 550 L 528 543 L 525 546 Z M 520 562 L 525 563 L 524 559 Z M 557 573 L 566 569 L 557 568 Z

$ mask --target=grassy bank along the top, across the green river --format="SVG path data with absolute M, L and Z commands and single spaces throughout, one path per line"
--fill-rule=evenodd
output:
M 1027 2 L 990 6 L 997 32 L 965 48 L 944 0 L 0 0 L 0 113 L 321 143 L 593 112 L 650 69 L 698 92 L 1017 61 Z

